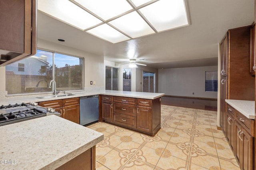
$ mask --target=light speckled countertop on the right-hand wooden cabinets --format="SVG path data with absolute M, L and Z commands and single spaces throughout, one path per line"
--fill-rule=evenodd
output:
M 226 99 L 226 103 L 234 107 L 249 119 L 255 119 L 255 101 Z

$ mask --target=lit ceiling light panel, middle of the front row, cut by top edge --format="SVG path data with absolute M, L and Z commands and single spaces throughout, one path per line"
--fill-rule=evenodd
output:
M 132 10 L 132 6 L 126 0 L 74 0 L 84 8 L 90 10 L 103 20 L 109 20 L 115 16 Z

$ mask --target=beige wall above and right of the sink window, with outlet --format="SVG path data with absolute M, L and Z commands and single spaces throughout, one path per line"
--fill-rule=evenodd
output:
M 38 39 L 38 49 L 56 51 L 77 57 L 84 57 L 84 87 L 104 86 L 104 57 L 97 56 L 86 51 L 67 47 L 57 43 Z M 96 81 L 96 85 L 90 85 L 90 81 Z

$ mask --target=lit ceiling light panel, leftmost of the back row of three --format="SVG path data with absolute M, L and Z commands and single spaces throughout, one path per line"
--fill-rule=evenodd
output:
M 120 33 L 119 31 L 115 30 L 108 24 L 103 24 L 98 27 L 92 28 L 88 30 L 90 34 L 107 40 L 112 43 L 122 42 L 125 40 L 130 40 L 130 38 L 126 37 L 124 34 Z

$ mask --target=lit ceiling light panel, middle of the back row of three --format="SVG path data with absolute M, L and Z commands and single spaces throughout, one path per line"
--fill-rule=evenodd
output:
M 155 33 L 136 11 L 121 16 L 109 23 L 132 38 Z

